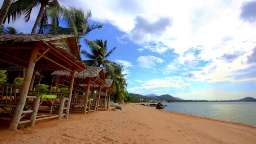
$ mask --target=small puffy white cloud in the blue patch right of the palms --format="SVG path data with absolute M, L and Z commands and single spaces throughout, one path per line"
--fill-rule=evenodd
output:
M 142 68 L 152 68 L 152 66 L 155 65 L 155 62 L 162 63 L 164 60 L 155 56 L 140 56 L 138 57 L 137 62 Z

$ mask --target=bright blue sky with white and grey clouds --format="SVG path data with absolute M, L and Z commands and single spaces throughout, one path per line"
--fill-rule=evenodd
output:
M 0 0 L 2 4 L 3 0 Z M 61 0 L 102 23 L 88 39 L 108 40 L 129 93 L 183 99 L 256 98 L 256 1 Z M 28 23 L 13 26 L 31 33 Z M 88 50 L 85 46 L 82 49 Z M 84 59 L 84 58 L 83 58 Z

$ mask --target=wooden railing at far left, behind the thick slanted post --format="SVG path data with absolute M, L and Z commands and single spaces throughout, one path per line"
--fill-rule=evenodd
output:
M 15 84 L 0 84 L 1 102 L 16 103 L 21 91 L 22 85 Z M 18 88 L 18 89 L 17 89 Z

